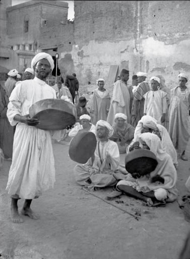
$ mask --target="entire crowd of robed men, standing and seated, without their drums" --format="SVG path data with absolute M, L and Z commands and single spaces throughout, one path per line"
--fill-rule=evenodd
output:
M 25 70 L 24 79 L 17 79 L 16 69 L 8 73 L 5 87 L 1 85 L 1 142 L 5 158 L 12 158 L 7 191 L 12 199 L 13 222 L 23 222 L 18 211 L 18 200 L 25 199 L 21 214 L 32 219 L 38 216 L 31 210 L 33 199 L 44 190 L 53 187 L 55 181 L 54 157 L 51 140 L 57 132 L 41 130 L 38 119 L 30 118 L 29 108 L 43 99 L 60 99 L 75 103 L 79 91 L 76 74 L 67 76 L 65 82 L 50 87 L 47 76 L 54 68 L 52 57 L 38 53 Z M 177 152 L 184 161 L 189 139 L 190 90 L 188 77 L 180 73 L 178 85 L 173 89 L 165 86 L 163 76 L 133 75 L 128 85 L 129 71 L 123 69 L 113 86 L 113 95 L 104 88 L 105 81 L 97 80 L 93 91 L 90 112 L 87 100 L 80 97 L 75 103 L 77 120 L 64 132 L 74 138 L 79 131 L 92 132 L 97 139 L 94 155 L 86 164 L 76 165 L 74 176 L 78 184 L 97 190 L 112 187 L 107 199 L 122 193 L 140 199 L 149 206 L 165 206 L 177 199 Z M 177 84 L 177 82 L 176 82 Z M 15 131 L 15 132 L 14 132 Z M 58 138 L 60 139 L 60 134 Z M 12 136 L 12 138 L 10 138 Z M 13 141 L 14 136 L 14 141 Z M 119 154 L 134 150 L 150 150 L 158 165 L 148 174 L 128 173 L 120 163 Z M 186 187 L 190 191 L 190 180 Z

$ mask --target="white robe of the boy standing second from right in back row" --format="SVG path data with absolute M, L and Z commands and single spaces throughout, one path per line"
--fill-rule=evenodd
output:
M 166 95 L 162 90 L 148 91 L 145 95 L 144 113 L 155 118 L 161 124 L 161 117 L 167 111 Z

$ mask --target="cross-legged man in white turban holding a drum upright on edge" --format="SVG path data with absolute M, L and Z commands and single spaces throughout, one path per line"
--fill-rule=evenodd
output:
M 113 186 L 117 183 L 113 174 L 119 173 L 121 167 L 118 146 L 109 140 L 112 134 L 113 128 L 108 122 L 99 120 L 96 123 L 98 142 L 95 153 L 86 164 L 76 165 L 74 168 L 76 181 L 80 185 L 97 189 L 97 187 Z

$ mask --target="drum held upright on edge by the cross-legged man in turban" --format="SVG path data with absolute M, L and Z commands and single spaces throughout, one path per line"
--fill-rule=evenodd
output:
M 69 146 L 70 158 L 85 164 L 95 152 L 97 140 L 92 132 L 81 131 L 72 139 Z

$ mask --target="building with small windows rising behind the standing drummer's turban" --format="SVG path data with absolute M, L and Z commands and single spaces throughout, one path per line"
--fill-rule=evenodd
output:
M 4 3 L 7 6 L 7 3 Z M 33 56 L 41 51 L 39 46 L 41 28 L 56 23 L 67 24 L 68 3 L 59 1 L 30 1 L 7 10 L 7 41 L 4 43 L 14 55 L 15 68 L 23 72 L 31 66 Z M 5 34 L 5 33 L 4 33 Z M 5 52 L 5 51 L 4 51 Z M 5 54 L 4 54 L 5 55 Z M 12 59 L 12 56 L 10 56 Z M 6 67 L 13 66 L 4 60 Z M 11 68 L 10 68 L 11 69 Z

